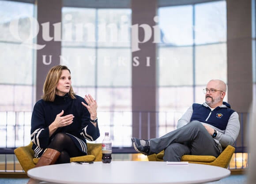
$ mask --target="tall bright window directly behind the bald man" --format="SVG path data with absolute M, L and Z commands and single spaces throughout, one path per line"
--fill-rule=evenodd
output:
M 192 103 L 203 103 L 210 79 L 227 81 L 226 1 L 159 8 L 159 135 Z M 170 122 L 168 122 L 168 120 Z M 171 125 L 168 125 L 171 124 Z M 175 125 L 175 124 L 174 124 Z

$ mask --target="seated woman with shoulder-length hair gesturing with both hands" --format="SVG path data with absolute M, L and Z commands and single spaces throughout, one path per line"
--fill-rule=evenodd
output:
M 86 139 L 100 136 L 97 103 L 89 95 L 75 95 L 70 70 L 54 66 L 48 72 L 42 99 L 34 105 L 31 140 L 38 166 L 68 163 L 70 157 L 87 154 Z

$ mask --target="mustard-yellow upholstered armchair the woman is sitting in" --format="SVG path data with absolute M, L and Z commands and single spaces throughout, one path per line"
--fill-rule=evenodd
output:
M 27 146 L 21 146 L 14 150 L 14 154 L 19 160 L 25 173 L 29 169 L 34 168 L 38 163 L 39 158 L 34 157 L 34 150 L 32 150 L 33 143 L 30 142 Z M 102 144 L 101 143 L 87 143 L 87 154 L 80 157 L 72 157 L 70 161 L 102 161 Z

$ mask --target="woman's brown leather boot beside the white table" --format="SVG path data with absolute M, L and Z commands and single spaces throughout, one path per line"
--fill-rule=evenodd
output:
M 38 160 L 38 163 L 35 165 L 35 167 L 40 167 L 44 165 L 52 165 L 56 162 L 56 160 L 59 158 L 60 152 L 51 148 L 47 148 L 45 152 L 42 154 L 40 159 Z M 27 184 L 39 184 L 38 180 L 34 180 L 30 178 L 30 180 L 27 182 Z

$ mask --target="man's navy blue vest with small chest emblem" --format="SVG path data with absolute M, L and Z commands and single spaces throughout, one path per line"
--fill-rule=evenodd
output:
M 234 110 L 230 109 L 230 105 L 223 102 L 227 108 L 216 107 L 213 111 L 209 107 L 202 104 L 193 104 L 193 114 L 190 121 L 198 120 L 203 123 L 211 124 L 212 126 L 225 130 Z

